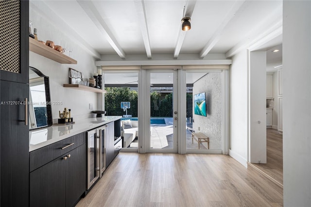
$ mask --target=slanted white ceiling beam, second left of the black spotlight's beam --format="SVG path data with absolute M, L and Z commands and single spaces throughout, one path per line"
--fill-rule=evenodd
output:
M 104 35 L 104 37 L 107 39 L 111 47 L 118 53 L 118 55 L 122 59 L 125 59 L 125 53 L 123 52 L 115 36 L 110 31 L 103 17 L 99 13 L 99 11 L 96 9 L 93 2 L 87 1 L 87 0 L 78 0 L 77 2 L 80 4 L 82 9 L 86 12 L 88 17 L 90 17 L 90 19 L 93 21 L 95 26 L 99 29 L 99 31 Z

